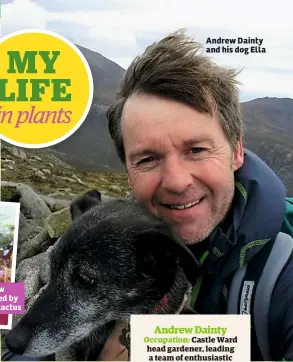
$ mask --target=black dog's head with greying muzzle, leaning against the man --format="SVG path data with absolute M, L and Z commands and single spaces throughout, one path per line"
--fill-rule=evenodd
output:
M 50 282 L 8 335 L 17 353 L 53 353 L 109 321 L 151 313 L 178 270 L 196 277 L 189 249 L 135 201 L 102 203 L 89 192 L 70 210 L 73 223 L 50 253 Z

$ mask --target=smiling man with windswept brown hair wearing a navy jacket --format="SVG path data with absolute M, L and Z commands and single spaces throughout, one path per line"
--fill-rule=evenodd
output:
M 181 31 L 149 46 L 126 71 L 107 117 L 135 197 L 202 262 L 194 309 L 220 314 L 234 273 L 279 231 L 293 233 L 283 184 L 243 148 L 237 73 L 199 50 Z M 292 283 L 291 261 L 269 313 L 273 360 L 293 360 Z M 251 349 L 261 360 L 253 333 Z

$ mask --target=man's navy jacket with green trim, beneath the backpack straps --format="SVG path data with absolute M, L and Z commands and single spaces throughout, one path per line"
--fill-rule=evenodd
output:
M 245 150 L 243 166 L 235 172 L 235 197 L 229 223 L 219 226 L 194 246 L 202 264 L 203 282 L 194 309 L 201 314 L 224 314 L 233 274 L 253 258 L 279 231 L 293 237 L 293 203 L 276 174 L 255 154 Z M 205 249 L 203 249 L 205 245 Z M 192 249 L 192 247 L 191 247 Z M 260 306 L 261 307 L 261 306 Z M 274 361 L 293 361 L 293 259 L 276 284 L 269 312 L 271 355 Z M 260 360 L 252 334 L 251 360 Z

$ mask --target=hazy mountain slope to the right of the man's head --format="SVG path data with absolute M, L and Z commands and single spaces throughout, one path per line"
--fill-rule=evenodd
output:
M 242 104 L 245 147 L 262 158 L 293 195 L 293 100 L 261 98 Z

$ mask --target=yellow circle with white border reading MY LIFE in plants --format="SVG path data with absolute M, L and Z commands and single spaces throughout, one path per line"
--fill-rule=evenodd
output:
M 50 31 L 26 30 L 0 40 L 0 135 L 26 148 L 72 135 L 93 99 L 93 78 L 80 50 Z

